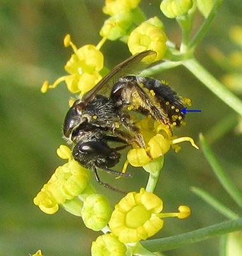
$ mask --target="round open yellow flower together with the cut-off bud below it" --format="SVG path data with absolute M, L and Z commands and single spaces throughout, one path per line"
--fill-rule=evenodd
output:
M 178 212 L 162 213 L 163 202 L 144 188 L 139 193 L 128 193 L 115 206 L 109 221 L 111 234 L 98 237 L 92 244 L 92 256 L 126 255 L 128 243 L 137 243 L 155 235 L 162 227 L 162 218 L 190 216 L 190 208 L 180 205 Z

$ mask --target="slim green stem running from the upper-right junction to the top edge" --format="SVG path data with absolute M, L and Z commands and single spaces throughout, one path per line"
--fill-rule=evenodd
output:
M 209 13 L 208 17 L 206 18 L 206 20 L 204 21 L 202 26 L 200 27 L 199 31 L 197 31 L 197 34 L 194 36 L 193 40 L 188 45 L 188 47 L 190 49 L 195 48 L 196 45 L 199 44 L 199 42 L 202 40 L 202 38 L 204 38 L 204 35 L 207 33 L 211 22 L 213 21 L 213 19 L 215 18 L 216 13 L 218 12 L 218 7 L 222 3 L 223 3 L 223 0 L 215 0 L 215 3 L 213 5 L 213 9 Z

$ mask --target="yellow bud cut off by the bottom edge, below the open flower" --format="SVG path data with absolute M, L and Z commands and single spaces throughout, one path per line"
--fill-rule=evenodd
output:
M 113 234 L 99 236 L 91 245 L 92 256 L 125 256 L 126 246 Z

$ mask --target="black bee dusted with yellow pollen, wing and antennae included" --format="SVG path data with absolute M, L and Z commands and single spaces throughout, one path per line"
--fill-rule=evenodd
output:
M 167 125 L 179 126 L 185 118 L 180 97 L 169 86 L 158 80 L 127 76 L 147 66 L 142 60 L 156 54 L 144 51 L 117 65 L 82 99 L 76 100 L 64 119 L 64 137 L 75 143 L 73 158 L 95 172 L 98 183 L 119 191 L 98 177 L 99 169 L 116 175 L 130 176 L 111 170 L 119 162 L 119 150 L 137 143 L 145 148 L 138 127 L 132 122 L 130 111 L 151 115 Z M 133 72 L 133 71 L 132 71 Z M 112 148 L 110 141 L 123 143 Z

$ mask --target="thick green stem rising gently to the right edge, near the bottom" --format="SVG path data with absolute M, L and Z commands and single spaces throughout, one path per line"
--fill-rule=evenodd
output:
M 178 236 L 142 241 L 141 244 L 151 252 L 166 251 L 241 229 L 242 218 L 239 218 L 238 220 L 229 220 L 206 228 L 199 228 Z

